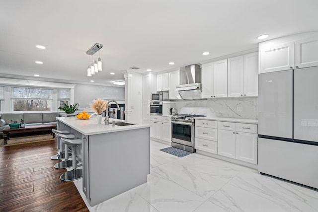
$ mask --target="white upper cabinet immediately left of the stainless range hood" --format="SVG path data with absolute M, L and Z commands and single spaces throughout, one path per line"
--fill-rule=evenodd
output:
M 182 99 L 179 92 L 175 90 L 177 85 L 185 84 L 185 72 L 178 69 L 169 72 L 169 99 Z

